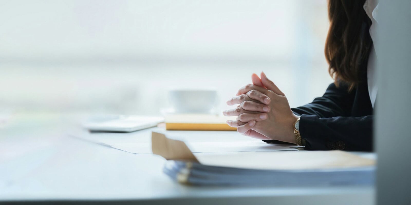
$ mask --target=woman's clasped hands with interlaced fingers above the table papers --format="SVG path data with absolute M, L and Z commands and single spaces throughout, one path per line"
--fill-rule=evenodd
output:
M 228 105 L 238 105 L 225 110 L 225 116 L 237 116 L 236 121 L 227 121 L 231 127 L 245 136 L 267 140 L 296 143 L 293 123 L 299 118 L 290 108 L 284 93 L 261 72 L 261 78 L 253 74 L 253 84 L 238 90 Z

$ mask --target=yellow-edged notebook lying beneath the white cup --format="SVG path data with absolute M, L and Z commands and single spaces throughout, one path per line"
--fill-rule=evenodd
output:
M 236 117 L 211 114 L 169 114 L 165 117 L 166 130 L 236 131 L 237 128 L 227 125 L 227 120 L 236 120 Z

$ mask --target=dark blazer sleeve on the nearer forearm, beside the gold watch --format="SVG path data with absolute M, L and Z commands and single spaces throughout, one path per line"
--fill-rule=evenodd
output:
M 373 116 L 320 118 L 302 114 L 300 134 L 306 150 L 372 151 Z

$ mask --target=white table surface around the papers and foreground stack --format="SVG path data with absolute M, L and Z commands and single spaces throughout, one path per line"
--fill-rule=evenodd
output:
M 23 119 L 21 119 L 23 118 Z M 69 137 L 63 120 L 20 117 L 0 128 L 0 201 L 101 201 L 175 204 L 373 204 L 374 187 L 195 187 L 162 172 L 165 159 Z M 63 128 L 64 127 L 64 128 Z M 68 128 L 70 129 L 70 128 Z M 116 142 L 149 142 L 152 128 L 96 133 Z M 167 131 L 186 141 L 252 141 L 236 132 Z M 367 154 L 367 153 L 365 153 Z M 200 200 L 201 199 L 201 200 Z M 194 200 L 194 201 L 193 201 Z

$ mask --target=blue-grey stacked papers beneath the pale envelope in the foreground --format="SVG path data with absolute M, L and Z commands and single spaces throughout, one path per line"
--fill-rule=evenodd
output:
M 374 171 L 375 168 L 372 166 L 313 170 L 238 169 L 175 160 L 167 161 L 164 166 L 164 173 L 173 180 L 187 185 L 372 185 Z

